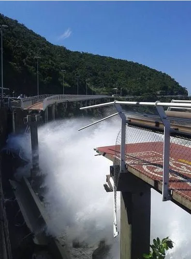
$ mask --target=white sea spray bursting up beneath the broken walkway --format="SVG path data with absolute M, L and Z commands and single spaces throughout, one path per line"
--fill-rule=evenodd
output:
M 63 120 L 48 123 L 38 130 L 40 167 L 46 174 L 44 185 L 48 187 L 44 200 L 51 216 L 48 231 L 53 235 L 66 231 L 70 240 L 78 238 L 89 244 L 97 244 L 102 238 L 110 243 L 115 241 L 112 252 L 116 254 L 109 258 L 118 259 L 119 238 L 113 239 L 113 195 L 103 189 L 112 163 L 102 156 L 95 157 L 93 148 L 115 144 L 120 120 L 115 118 L 77 131 L 91 121 Z M 21 145 L 29 157 L 29 139 L 28 142 L 20 136 L 11 139 L 14 145 Z M 20 174 L 21 170 L 24 172 L 20 168 Z M 151 241 L 157 236 L 169 236 L 175 245 L 167 258 L 190 259 L 190 214 L 171 201 L 162 202 L 161 195 L 154 190 L 151 198 Z

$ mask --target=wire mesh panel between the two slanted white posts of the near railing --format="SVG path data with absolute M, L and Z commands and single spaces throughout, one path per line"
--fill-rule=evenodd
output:
M 126 164 L 162 182 L 163 135 L 127 126 Z

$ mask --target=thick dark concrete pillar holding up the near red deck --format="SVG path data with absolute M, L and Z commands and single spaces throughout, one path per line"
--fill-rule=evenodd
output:
M 126 175 L 125 182 L 121 179 L 120 259 L 141 259 L 149 253 L 150 187 L 131 173 Z

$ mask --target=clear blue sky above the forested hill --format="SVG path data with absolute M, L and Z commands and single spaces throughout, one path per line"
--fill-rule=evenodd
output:
M 191 94 L 191 1 L 0 1 L 0 13 L 53 44 L 165 72 Z

